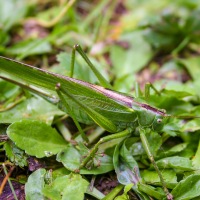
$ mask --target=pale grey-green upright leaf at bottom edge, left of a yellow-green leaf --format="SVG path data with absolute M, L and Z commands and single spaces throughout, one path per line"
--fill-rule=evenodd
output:
M 25 185 L 25 194 L 27 200 L 43 200 L 44 196 L 42 190 L 45 185 L 45 169 L 38 169 L 33 172 Z

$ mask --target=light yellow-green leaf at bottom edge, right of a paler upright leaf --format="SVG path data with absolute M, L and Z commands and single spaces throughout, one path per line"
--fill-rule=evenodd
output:
M 54 200 L 83 200 L 88 188 L 88 181 L 78 174 L 56 178 L 52 184 L 45 185 L 43 194 Z

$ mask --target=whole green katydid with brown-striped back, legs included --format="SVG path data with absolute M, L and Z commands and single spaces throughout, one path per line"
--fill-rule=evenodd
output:
M 85 124 L 95 122 L 108 132 L 115 133 L 100 139 L 83 160 L 81 167 L 84 167 L 95 156 L 100 144 L 111 139 L 128 137 L 136 127 L 139 127 L 144 149 L 160 177 L 167 198 L 172 199 L 145 136 L 147 128 L 154 131 L 162 130 L 169 115 L 147 103 L 138 102 L 131 96 L 111 90 L 111 85 L 96 70 L 79 45 L 73 49 L 71 76 L 73 76 L 76 51 L 82 55 L 104 87 L 50 73 L 4 57 L 0 57 L 0 78 L 58 103 L 64 111 L 71 115 L 83 136 L 78 122 Z

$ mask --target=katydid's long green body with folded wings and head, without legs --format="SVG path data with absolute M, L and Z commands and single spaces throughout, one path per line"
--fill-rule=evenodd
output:
M 166 116 L 164 112 L 148 104 L 137 102 L 136 99 L 125 94 L 85 81 L 54 74 L 4 57 L 0 57 L 0 78 L 43 95 L 55 103 L 58 102 L 55 86 L 60 83 L 63 89 L 74 98 L 112 120 L 116 125 L 116 130 L 108 130 L 110 132 L 119 132 L 127 127 L 134 128 L 137 123 L 140 126 L 153 126 L 156 128 L 156 126 L 160 126 L 158 119 Z M 79 105 L 71 99 L 67 99 L 67 97 L 66 101 L 78 121 L 85 124 L 93 123 L 93 120 Z M 65 109 L 63 106 L 61 107 Z

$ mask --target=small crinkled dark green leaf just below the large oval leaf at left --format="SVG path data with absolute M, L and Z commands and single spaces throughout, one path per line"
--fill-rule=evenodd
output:
M 23 150 L 19 149 L 13 142 L 7 141 L 4 144 L 4 150 L 8 159 L 13 162 L 15 165 L 20 167 L 27 166 L 26 159 L 28 156 L 24 153 Z

